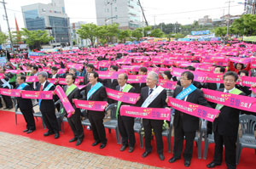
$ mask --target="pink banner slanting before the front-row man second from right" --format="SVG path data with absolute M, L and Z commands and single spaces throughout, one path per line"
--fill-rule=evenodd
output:
M 172 97 L 168 97 L 168 105 L 175 110 L 182 111 L 188 115 L 193 115 L 207 121 L 214 121 L 215 116 L 219 113 L 219 110 L 208 108 L 199 104 L 185 102 Z

